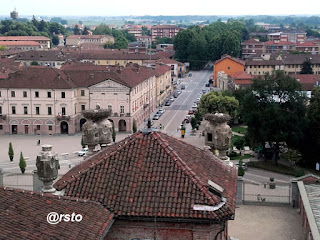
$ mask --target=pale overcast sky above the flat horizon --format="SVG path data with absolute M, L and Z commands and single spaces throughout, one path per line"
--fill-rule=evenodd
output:
M 288 0 L 1 0 L 0 15 L 17 8 L 19 15 L 290 15 L 320 14 L 320 1 Z

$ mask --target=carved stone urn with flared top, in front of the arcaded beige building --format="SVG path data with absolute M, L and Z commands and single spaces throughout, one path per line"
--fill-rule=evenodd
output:
M 88 146 L 86 158 L 93 154 L 97 145 L 101 148 L 112 142 L 112 123 L 107 119 L 111 115 L 111 110 L 100 109 L 83 111 L 83 116 L 87 121 L 82 127 L 83 143 Z

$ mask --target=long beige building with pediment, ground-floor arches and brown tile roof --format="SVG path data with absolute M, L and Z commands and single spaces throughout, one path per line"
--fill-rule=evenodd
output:
M 172 91 L 170 68 L 129 64 L 59 70 L 32 66 L 0 81 L 1 134 L 74 134 L 97 104 L 111 109 L 116 131 L 132 131 Z

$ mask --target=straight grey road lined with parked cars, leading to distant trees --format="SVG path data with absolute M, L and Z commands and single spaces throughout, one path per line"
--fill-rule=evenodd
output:
M 182 85 L 185 85 L 185 89 L 182 90 L 182 93 L 175 98 L 171 106 L 163 106 L 162 109 L 165 110 L 165 113 L 160 117 L 159 120 L 153 120 L 153 126 L 159 128 L 160 124 L 164 126 L 165 133 L 171 136 L 179 136 L 180 133 L 177 131 L 177 128 L 180 127 L 181 122 L 188 114 L 188 110 L 192 109 L 193 102 L 196 101 L 199 97 L 202 89 L 209 89 L 205 87 L 205 84 L 208 83 L 212 71 L 197 71 L 191 72 L 191 77 L 182 78 L 178 81 L 177 89 L 180 89 Z M 152 114 L 153 115 L 158 111 L 157 108 Z M 139 129 L 145 127 L 145 123 L 139 126 Z M 186 135 L 190 132 L 191 126 L 187 124 Z

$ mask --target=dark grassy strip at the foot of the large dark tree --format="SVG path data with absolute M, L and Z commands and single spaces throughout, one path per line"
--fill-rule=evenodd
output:
M 278 163 L 278 165 L 275 165 L 273 162 L 259 161 L 259 162 L 249 162 L 247 163 L 247 165 L 249 167 L 260 168 L 260 169 L 281 173 L 285 175 L 291 175 L 295 177 L 300 177 L 305 174 L 305 171 L 302 168 L 290 167 L 280 163 Z

